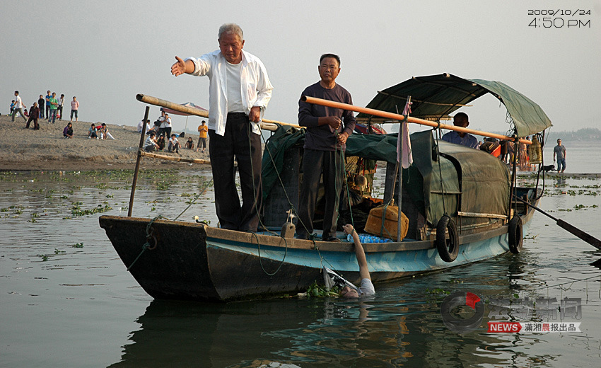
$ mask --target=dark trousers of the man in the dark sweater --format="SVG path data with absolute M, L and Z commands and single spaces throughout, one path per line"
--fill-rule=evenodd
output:
M 296 224 L 298 236 L 303 237 L 307 234 L 313 234 L 313 217 L 315 215 L 317 193 L 320 188 L 320 177 L 323 177 L 325 194 L 322 236 L 324 239 L 336 236 L 338 205 L 340 191 L 342 190 L 342 179 L 344 178 L 342 170 L 344 170 L 344 161 L 340 151 L 305 149 L 303 155 L 303 184 L 301 199 L 298 203 L 300 221 Z

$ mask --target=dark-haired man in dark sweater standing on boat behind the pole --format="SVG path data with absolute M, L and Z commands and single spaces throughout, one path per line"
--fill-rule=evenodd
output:
M 305 88 L 303 96 L 352 105 L 351 93 L 336 84 L 336 77 L 340 73 L 340 58 L 337 55 L 322 54 L 317 71 L 321 80 Z M 346 149 L 346 138 L 355 129 L 355 123 L 352 111 L 298 101 L 298 125 L 307 127 L 299 224 L 296 226 L 298 238 L 306 239 L 313 234 L 315 202 L 319 192 L 320 176 L 323 175 L 325 209 L 322 240 L 339 241 L 336 237 L 336 227 L 340 191 L 344 179 L 344 149 Z

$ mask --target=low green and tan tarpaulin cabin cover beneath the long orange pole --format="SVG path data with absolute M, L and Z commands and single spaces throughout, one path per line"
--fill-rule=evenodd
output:
M 429 130 L 411 134 L 410 138 L 414 162 L 403 170 L 403 188 L 428 222 L 436 224 L 445 212 L 451 217 L 457 212 L 508 213 L 510 175 L 499 159 L 444 141 L 438 142 L 438 156 L 437 142 Z M 264 199 L 274 185 L 280 185 L 276 171 L 282 172 L 286 150 L 302 146 L 304 141 L 304 129 L 286 126 L 269 138 L 262 161 Z M 346 156 L 394 164 L 396 146 L 397 134 L 351 134 L 346 140 Z

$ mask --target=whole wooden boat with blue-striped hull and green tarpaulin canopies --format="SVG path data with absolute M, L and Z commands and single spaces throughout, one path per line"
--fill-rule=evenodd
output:
M 405 88 L 411 84 L 414 112 L 419 113 L 424 104 L 428 117 L 438 114 L 443 118 L 489 92 L 511 106 L 508 113 L 520 137 L 550 125 L 532 101 L 516 108 L 516 101 L 525 97 L 498 82 L 448 74 L 422 79 L 427 83 L 416 83 L 416 79 L 404 82 Z M 444 85 L 448 79 L 453 79 L 453 86 Z M 395 96 L 408 95 L 403 84 L 391 88 Z M 392 96 L 391 88 L 379 93 L 370 105 L 382 96 Z M 537 108 L 535 119 L 530 110 L 533 106 Z M 383 109 L 393 112 L 396 107 Z M 262 220 L 266 229 L 256 234 L 138 217 L 102 216 L 100 226 L 137 282 L 156 299 L 231 301 L 296 293 L 323 280 L 324 267 L 358 282 L 353 246 L 346 239 L 342 243 L 307 241 L 293 238 L 288 231 L 291 224 L 286 210 L 298 204 L 303 135 L 303 130 L 280 127 L 269 139 L 267 148 L 273 151 L 269 151 L 269 158 L 264 154 L 263 160 L 267 198 Z M 363 244 L 373 281 L 466 265 L 510 249 L 519 253 L 533 209 L 511 200 L 512 194 L 536 204 L 542 189 L 516 188 L 515 171 L 512 176 L 504 163 L 482 151 L 438 141 L 431 132 L 412 134 L 411 139 L 415 161 L 402 171 L 402 185 L 394 184 L 398 181 L 394 174 L 396 137 L 353 134 L 347 141 L 347 157 L 387 162 L 384 200 L 395 195 L 394 190 L 398 193 L 400 187 L 400 207 L 409 217 L 408 234 L 402 241 Z M 456 230 L 447 222 L 440 224 L 445 214 L 447 221 L 456 224 Z M 449 255 L 453 259 L 443 260 Z

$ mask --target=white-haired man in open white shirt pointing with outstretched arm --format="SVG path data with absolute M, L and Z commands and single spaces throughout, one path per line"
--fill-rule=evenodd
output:
M 215 207 L 223 229 L 257 231 L 261 190 L 261 113 L 273 86 L 259 58 L 243 51 L 240 26 L 221 25 L 219 50 L 190 57 L 171 67 L 171 74 L 209 76 L 209 157 L 215 186 Z M 242 201 L 235 187 L 238 161 Z

